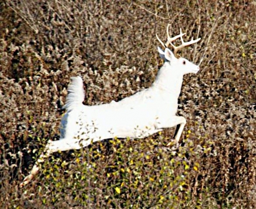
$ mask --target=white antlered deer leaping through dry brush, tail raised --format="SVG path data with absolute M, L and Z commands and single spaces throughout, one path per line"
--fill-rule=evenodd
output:
M 176 116 L 183 75 L 198 72 L 199 66 L 185 58 L 177 58 L 177 52 L 200 39 L 184 42 L 182 36 L 185 33 L 181 29 L 179 35 L 171 38 L 168 28 L 169 24 L 166 44 L 156 35 L 165 48 L 162 50 L 158 47 L 164 64 L 150 88 L 118 102 L 87 106 L 82 104 L 85 96 L 82 79 L 79 76 L 71 78 L 64 105 L 67 112 L 61 119 L 60 140 L 49 140 L 45 151 L 20 186 L 31 181 L 38 173 L 40 163 L 52 152 L 76 150 L 92 142 L 115 137 L 144 138 L 174 126 L 177 126 L 174 141 L 179 142 L 186 123 L 184 117 Z M 178 38 L 181 39 L 181 45 L 174 46 L 172 42 Z M 168 44 L 174 48 L 174 53 L 167 48 Z

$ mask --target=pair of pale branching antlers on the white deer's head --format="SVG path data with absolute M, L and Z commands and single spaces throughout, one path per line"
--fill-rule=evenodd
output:
M 167 30 L 166 30 L 166 32 L 167 32 L 167 37 L 168 37 L 168 39 L 167 39 L 167 41 L 166 41 L 166 44 L 164 44 L 164 43 L 159 39 L 158 35 L 156 35 L 156 38 L 157 38 L 158 41 L 163 45 L 164 48 L 168 48 L 168 45 L 171 44 L 171 46 L 174 48 L 174 56 L 175 56 L 175 57 L 177 57 L 177 52 L 178 52 L 180 49 L 184 48 L 185 46 L 188 46 L 188 45 L 191 45 L 191 44 L 195 44 L 197 41 L 200 41 L 200 39 L 201 39 L 201 38 L 199 38 L 199 39 L 193 40 L 193 37 L 192 37 L 191 41 L 184 42 L 182 36 L 184 36 L 185 33 L 182 33 L 182 32 L 181 32 L 181 28 L 180 28 L 180 35 L 177 35 L 177 36 L 171 38 L 170 35 L 169 35 L 169 33 L 168 33 L 168 31 L 169 31 L 169 26 L 170 26 L 170 24 L 167 25 Z M 179 45 L 179 46 L 173 45 L 172 42 L 175 41 L 175 40 L 178 39 L 178 38 L 180 38 L 180 40 L 181 40 L 181 45 Z

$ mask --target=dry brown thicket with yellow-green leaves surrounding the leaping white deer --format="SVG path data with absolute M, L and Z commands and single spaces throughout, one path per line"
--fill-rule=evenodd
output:
M 253 0 L 0 3 L 0 207 L 255 208 L 255 11 Z M 179 150 L 164 148 L 174 129 L 105 140 L 53 154 L 20 189 L 58 139 L 70 77 L 82 76 L 86 105 L 150 86 L 167 24 L 202 38 L 180 53 L 200 71 L 184 76 Z

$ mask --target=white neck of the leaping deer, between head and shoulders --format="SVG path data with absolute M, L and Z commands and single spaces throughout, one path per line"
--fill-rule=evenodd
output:
M 170 99 L 178 99 L 183 82 L 183 74 L 175 66 L 165 62 L 158 71 L 153 87 L 164 93 L 168 93 Z

